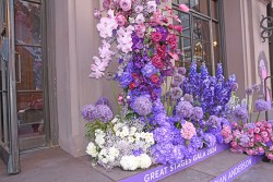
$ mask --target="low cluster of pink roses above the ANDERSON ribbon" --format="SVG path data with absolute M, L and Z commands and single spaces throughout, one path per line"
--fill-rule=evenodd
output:
M 233 130 L 225 125 L 222 130 L 225 143 L 230 143 L 234 153 L 248 155 L 265 155 L 273 160 L 273 133 L 268 121 L 245 123 L 244 126 L 233 122 Z

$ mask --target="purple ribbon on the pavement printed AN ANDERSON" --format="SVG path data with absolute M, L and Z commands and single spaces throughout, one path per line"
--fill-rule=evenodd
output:
M 229 170 L 225 171 L 217 178 L 213 179 L 211 182 L 225 182 L 225 181 L 233 181 L 238 175 L 240 175 L 244 171 L 251 168 L 253 165 L 259 162 L 262 159 L 262 156 L 249 156 L 235 167 L 230 168 Z

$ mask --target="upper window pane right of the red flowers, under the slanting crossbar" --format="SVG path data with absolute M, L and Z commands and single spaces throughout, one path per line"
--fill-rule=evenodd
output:
M 193 17 L 193 39 L 210 41 L 210 24 L 209 21 Z

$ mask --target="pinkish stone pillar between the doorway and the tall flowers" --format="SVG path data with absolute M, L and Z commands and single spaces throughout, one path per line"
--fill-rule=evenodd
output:
M 85 154 L 87 144 L 82 107 L 110 95 L 100 80 L 88 78 L 100 43 L 93 17 L 98 7 L 93 0 L 55 0 L 59 145 L 75 157 Z

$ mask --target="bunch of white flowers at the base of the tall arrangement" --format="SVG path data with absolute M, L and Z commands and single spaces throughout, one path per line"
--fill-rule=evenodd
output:
M 95 139 L 86 153 L 107 169 L 121 166 L 124 170 L 146 169 L 152 165 L 150 148 L 155 143 L 153 133 L 143 132 L 139 119 L 111 121 L 112 129 L 95 130 Z

